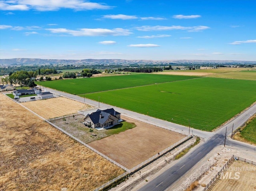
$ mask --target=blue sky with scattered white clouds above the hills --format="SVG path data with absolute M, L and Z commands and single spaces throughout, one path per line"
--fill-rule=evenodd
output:
M 0 58 L 256 61 L 256 0 L 0 0 Z

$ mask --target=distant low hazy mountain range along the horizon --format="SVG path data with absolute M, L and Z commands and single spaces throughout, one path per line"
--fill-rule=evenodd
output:
M 123 60 L 123 59 L 83 59 L 83 60 L 66 60 L 66 59 L 34 59 L 34 58 L 12 58 L 0 59 L 0 64 L 118 64 L 118 63 L 248 63 L 255 64 L 256 61 L 233 61 L 233 60 Z

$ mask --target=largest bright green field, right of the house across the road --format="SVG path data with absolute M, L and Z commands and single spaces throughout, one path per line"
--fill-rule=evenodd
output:
M 256 81 L 198 78 L 86 94 L 85 97 L 211 131 L 256 101 Z

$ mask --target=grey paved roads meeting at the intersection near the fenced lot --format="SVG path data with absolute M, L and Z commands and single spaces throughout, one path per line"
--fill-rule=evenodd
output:
M 87 104 L 93 105 L 95 107 L 99 106 L 99 102 L 94 100 L 89 100 L 86 98 L 82 98 L 80 96 L 76 95 L 70 95 L 68 93 L 56 91 L 53 89 L 47 88 L 48 91 L 56 93 L 58 95 L 64 95 L 67 97 L 70 97 L 72 99 L 78 100 L 80 102 L 85 102 Z M 149 122 L 160 124 L 162 126 L 167 126 L 169 128 L 174 128 L 176 130 L 188 132 L 188 127 L 174 124 L 168 121 L 156 119 L 150 116 L 146 116 L 143 114 L 138 114 L 136 112 L 132 112 L 129 110 L 125 110 L 122 108 L 114 107 L 108 104 L 100 103 L 100 108 L 114 108 L 115 110 L 118 110 L 118 112 L 125 114 L 127 116 L 132 116 L 136 118 L 140 118 L 142 120 L 147 120 Z M 256 113 L 256 104 L 251 106 L 248 110 L 243 112 L 242 114 L 238 115 L 233 120 L 230 120 L 227 124 L 216 130 L 215 132 L 204 132 L 201 130 L 196 130 L 193 128 L 190 128 L 190 133 L 193 132 L 194 135 L 199 136 L 205 140 L 203 144 L 200 144 L 199 146 L 196 146 L 194 148 L 194 151 L 190 153 L 189 155 L 186 155 L 186 157 L 181 158 L 175 165 L 164 171 L 162 174 L 160 174 L 158 177 L 152 179 L 146 185 L 141 187 L 138 191 L 164 191 L 170 185 L 172 185 L 174 182 L 176 182 L 180 177 L 182 177 L 184 174 L 186 174 L 198 161 L 203 159 L 206 154 L 208 154 L 212 149 L 214 149 L 218 145 L 224 145 L 224 138 L 225 138 L 225 132 L 227 127 L 227 136 L 231 134 L 232 132 L 232 126 L 234 124 L 233 130 L 236 128 L 242 126 L 250 116 Z M 256 147 L 251 146 L 248 144 L 244 144 L 241 142 L 237 142 L 231 139 L 226 139 L 226 147 L 230 148 L 238 148 L 243 150 L 248 150 L 252 152 L 256 152 Z

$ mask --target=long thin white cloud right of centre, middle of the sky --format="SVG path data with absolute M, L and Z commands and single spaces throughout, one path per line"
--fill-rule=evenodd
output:
M 161 31 L 161 30 L 187 30 L 188 32 L 198 32 L 202 30 L 209 29 L 207 26 L 193 26 L 193 27 L 184 27 L 184 26 L 141 26 L 134 27 L 139 31 Z

